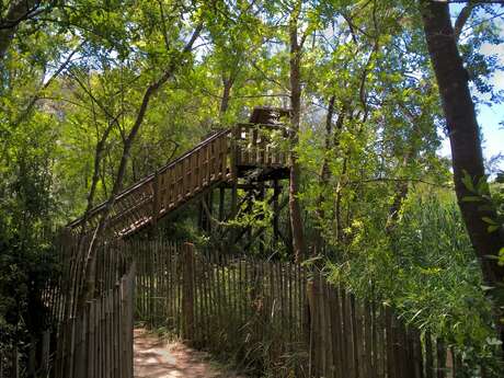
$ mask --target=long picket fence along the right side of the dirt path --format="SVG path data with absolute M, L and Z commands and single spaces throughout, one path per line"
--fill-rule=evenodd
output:
M 290 263 L 137 242 L 137 319 L 275 376 L 465 377 L 459 355 Z

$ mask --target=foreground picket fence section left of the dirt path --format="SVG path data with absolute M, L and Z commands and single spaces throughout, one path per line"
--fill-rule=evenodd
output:
M 55 378 L 133 378 L 135 265 L 114 288 L 60 323 Z

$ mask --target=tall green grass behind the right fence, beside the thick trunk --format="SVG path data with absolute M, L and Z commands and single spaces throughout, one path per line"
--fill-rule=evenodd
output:
M 491 302 L 453 195 L 415 191 L 387 234 L 368 226 L 330 262 L 333 279 L 359 296 L 378 296 L 421 330 L 442 335 L 463 364 L 502 377 Z M 473 371 L 473 376 L 480 373 Z

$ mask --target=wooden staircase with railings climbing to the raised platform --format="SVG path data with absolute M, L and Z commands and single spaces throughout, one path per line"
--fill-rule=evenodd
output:
M 256 111 L 251 119 L 254 115 L 257 118 Z M 272 144 L 272 131 L 279 134 L 280 138 L 287 136 L 282 125 L 256 123 L 239 124 L 213 134 L 192 150 L 119 193 L 108 215 L 107 230 L 122 238 L 153 226 L 211 187 L 238 184 L 239 177 L 251 170 L 286 177 L 286 154 Z M 104 209 L 105 203 L 98 205 L 91 209 L 85 222 L 81 217 L 68 227 L 73 233 L 88 233 L 96 228 Z

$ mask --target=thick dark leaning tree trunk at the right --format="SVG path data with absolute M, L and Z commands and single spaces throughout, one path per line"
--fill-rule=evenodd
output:
M 486 183 L 481 151 L 480 128 L 468 85 L 468 72 L 460 58 L 447 3 L 421 0 L 425 38 L 434 67 L 451 146 L 455 192 L 471 243 L 480 259 L 483 279 L 489 286 L 502 285 L 504 267 L 496 257 L 504 247 L 502 231 L 488 231 L 484 217 L 495 219 L 495 208 L 488 201 L 467 202 L 474 193 L 462 182 L 468 176 L 476 187 Z M 489 195 L 488 185 L 479 185 Z M 481 206 L 486 205 L 486 209 Z

